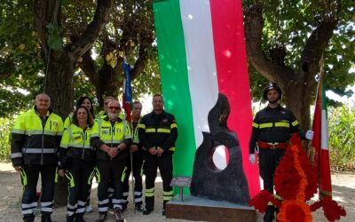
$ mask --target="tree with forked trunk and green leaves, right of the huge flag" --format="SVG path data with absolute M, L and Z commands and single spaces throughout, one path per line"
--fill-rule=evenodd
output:
M 268 81 L 279 83 L 287 107 L 310 125 L 316 75 L 341 95 L 355 80 L 354 5 L 351 1 L 243 2 L 248 64 L 254 99 Z M 264 79 L 260 79 L 263 76 Z M 265 80 L 266 79 L 266 80 Z

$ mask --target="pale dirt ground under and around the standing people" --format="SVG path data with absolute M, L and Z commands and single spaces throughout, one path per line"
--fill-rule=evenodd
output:
M 335 173 L 332 175 L 333 195 L 334 199 L 339 202 L 347 211 L 346 218 L 340 221 L 353 222 L 355 221 L 355 174 L 354 173 Z M 134 213 L 131 206 L 124 211 L 124 217 L 127 222 L 160 222 L 160 221 L 187 221 L 181 219 L 167 219 L 162 217 L 162 183 L 157 183 L 157 196 L 155 198 L 155 210 L 148 216 L 143 216 L 142 213 Z M 22 194 L 22 186 L 20 184 L 20 175 L 12 169 L 11 163 L 0 163 L 0 221 L 14 222 L 21 221 L 20 214 L 20 198 Z M 131 197 L 129 197 L 131 200 Z M 317 197 L 315 197 L 317 198 Z M 98 217 L 97 211 L 97 184 L 94 184 L 91 193 L 91 205 L 93 211 L 85 214 L 84 218 L 88 221 L 95 221 Z M 61 207 L 54 209 L 52 219 L 55 222 L 65 221 L 66 208 Z M 36 222 L 40 221 L 40 215 L 37 215 Z M 108 216 L 107 222 L 114 221 L 112 213 Z M 257 222 L 262 222 L 261 215 L 257 215 Z M 322 210 L 317 210 L 313 213 L 313 221 L 326 221 Z

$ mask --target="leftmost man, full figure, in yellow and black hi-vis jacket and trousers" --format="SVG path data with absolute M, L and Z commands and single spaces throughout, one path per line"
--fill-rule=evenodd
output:
M 20 115 L 12 131 L 12 165 L 20 171 L 22 185 L 21 211 L 24 221 L 35 221 L 36 186 L 39 173 L 42 178 L 42 221 L 51 221 L 54 178 L 57 167 L 63 121 L 53 114 L 47 94 L 36 96 L 35 107 Z

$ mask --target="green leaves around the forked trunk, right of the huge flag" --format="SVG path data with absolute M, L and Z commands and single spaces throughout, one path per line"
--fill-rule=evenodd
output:
M 354 34 L 355 13 L 351 1 L 244 1 L 244 10 L 259 5 L 264 27 L 262 49 L 267 59 L 280 60 L 286 67 L 296 69 L 306 41 L 322 22 L 335 20 L 336 26 L 323 53 L 324 71 L 328 89 L 339 95 L 351 96 L 345 91 L 353 84 L 355 75 Z M 246 12 L 248 14 L 248 12 Z M 316 45 L 310 45 L 311 49 Z M 319 71 L 319 70 L 318 70 Z M 254 99 L 261 99 L 263 79 L 254 67 L 249 68 Z M 266 77 L 267 78 L 267 77 Z M 272 80 L 267 78 L 268 80 Z

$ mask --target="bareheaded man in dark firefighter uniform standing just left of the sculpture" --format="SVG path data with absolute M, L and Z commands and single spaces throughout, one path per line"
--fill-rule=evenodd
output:
M 138 125 L 138 137 L 143 147 L 146 147 L 146 208 L 147 215 L 154 210 L 154 181 L 159 167 L 162 176 L 163 210 L 165 215 L 166 203 L 173 197 L 170 181 L 172 179 L 172 155 L 177 140 L 177 123 L 174 115 L 164 111 L 161 94 L 153 97 L 153 112 L 143 116 Z

